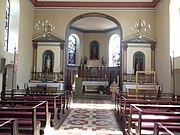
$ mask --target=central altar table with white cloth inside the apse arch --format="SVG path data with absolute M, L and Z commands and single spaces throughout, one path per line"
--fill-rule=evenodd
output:
M 98 86 L 108 86 L 108 81 L 83 81 L 82 86 L 85 87 L 85 92 L 97 91 Z

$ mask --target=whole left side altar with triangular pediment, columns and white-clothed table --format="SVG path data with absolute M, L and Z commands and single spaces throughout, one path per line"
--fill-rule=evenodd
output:
M 32 79 L 26 84 L 31 93 L 56 93 L 64 90 L 65 41 L 50 33 L 32 40 Z

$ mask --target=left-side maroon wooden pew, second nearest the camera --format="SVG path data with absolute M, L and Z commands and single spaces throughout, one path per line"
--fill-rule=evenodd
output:
M 44 107 L 46 111 L 40 112 L 39 107 L 43 105 L 46 106 Z M 50 116 L 47 108 L 47 101 L 38 102 L 35 106 L 0 106 L 0 116 L 3 118 L 17 118 L 20 132 L 39 135 L 41 121 L 38 119 L 45 119 L 46 124 L 49 125 Z

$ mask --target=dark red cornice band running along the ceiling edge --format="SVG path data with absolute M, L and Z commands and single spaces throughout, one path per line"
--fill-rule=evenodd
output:
M 38 8 L 148 8 L 164 0 L 27 0 Z

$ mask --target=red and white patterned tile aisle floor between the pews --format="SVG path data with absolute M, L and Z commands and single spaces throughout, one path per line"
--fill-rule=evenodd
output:
M 110 100 L 75 99 L 72 109 L 53 135 L 123 135 Z

